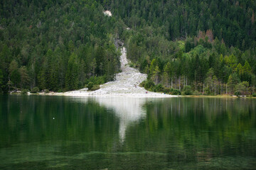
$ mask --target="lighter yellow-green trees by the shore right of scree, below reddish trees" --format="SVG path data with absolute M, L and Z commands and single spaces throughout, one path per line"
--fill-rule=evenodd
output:
M 154 35 L 144 36 L 144 41 L 140 42 L 140 45 L 146 47 L 147 41 L 151 38 L 154 38 Z M 130 43 L 132 41 L 136 41 L 136 35 L 131 37 Z M 196 42 L 192 42 L 191 38 L 187 41 Z M 159 50 L 161 49 L 159 45 L 157 48 L 153 46 L 142 48 L 144 49 L 140 51 L 142 55 L 134 62 L 140 64 L 140 70 L 148 74 L 149 79 L 156 86 L 163 84 L 181 91 L 184 86 L 188 85 L 191 86 L 191 92 L 188 94 L 193 94 L 192 91 L 206 95 L 233 94 L 235 85 L 240 81 L 248 81 L 249 86 L 254 87 L 256 85 L 255 72 L 252 70 L 256 70 L 256 65 L 252 67 L 247 60 L 256 63 L 255 51 L 242 52 L 238 48 L 225 47 L 225 52 L 220 53 L 217 44 L 220 42 L 216 41 L 212 47 L 204 47 L 205 41 L 202 45 L 196 42 L 188 52 L 184 50 L 186 42 L 169 42 L 171 45 L 166 48 L 167 51 L 172 51 L 169 55 L 165 55 L 164 50 Z M 158 57 L 155 54 L 158 54 Z M 146 85 L 146 82 L 144 86 L 148 90 L 158 91 L 156 86 L 151 87 L 151 84 Z M 251 90 L 253 91 L 253 88 Z

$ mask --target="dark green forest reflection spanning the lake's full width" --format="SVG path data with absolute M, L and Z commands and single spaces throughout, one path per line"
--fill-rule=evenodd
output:
M 53 151 L 54 154 L 137 153 L 131 157 L 129 154 L 102 157 L 107 157 L 105 162 L 111 162 L 112 167 L 120 162 L 129 166 L 124 161 L 129 159 L 137 168 L 154 167 L 152 164 L 158 167 L 160 163 L 164 167 L 183 162 L 212 162 L 216 157 L 228 155 L 256 155 L 255 134 L 252 134 L 256 128 L 256 105 L 251 99 L 147 99 L 142 102 L 144 106 L 132 102 L 134 107 L 130 109 L 127 105 L 131 103 L 117 107 L 114 106 L 117 101 L 84 98 L 1 96 L 0 100 L 0 149 L 47 142 L 61 151 Z M 131 115 L 126 113 L 129 110 Z M 121 145 L 122 119 L 127 124 Z

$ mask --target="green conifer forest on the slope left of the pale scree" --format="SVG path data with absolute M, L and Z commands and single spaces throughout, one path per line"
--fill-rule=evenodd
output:
M 126 27 L 104 16 L 100 2 L 26 4 L 0 3 L 0 90 L 63 91 L 82 88 L 90 77 L 104 77 L 97 84 L 114 80 L 119 71 L 115 31 Z

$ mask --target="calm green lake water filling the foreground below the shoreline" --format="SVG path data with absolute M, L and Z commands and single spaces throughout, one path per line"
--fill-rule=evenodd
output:
M 0 169 L 256 169 L 256 100 L 0 96 Z

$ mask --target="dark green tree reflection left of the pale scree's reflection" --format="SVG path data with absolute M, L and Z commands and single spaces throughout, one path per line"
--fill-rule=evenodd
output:
M 95 101 L 75 102 L 72 98 L 9 96 L 1 104 L 0 147 L 21 142 L 83 142 L 84 150 L 106 150 L 118 140 L 115 116 Z M 54 118 L 54 119 L 53 119 Z M 80 148 L 78 148 L 80 149 Z

